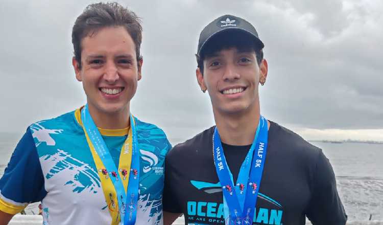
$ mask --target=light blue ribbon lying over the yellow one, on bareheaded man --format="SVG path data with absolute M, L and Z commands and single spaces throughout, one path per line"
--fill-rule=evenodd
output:
M 100 156 L 107 171 L 118 171 L 112 156 L 110 155 L 109 149 L 106 146 L 104 139 L 102 138 L 99 129 L 94 124 L 92 117 L 90 116 L 88 104 L 85 105 L 83 113 L 81 114 L 81 121 L 85 127 L 88 137 L 93 144 L 94 150 Z M 134 224 L 136 221 L 137 214 L 137 200 L 138 200 L 138 188 L 139 188 L 139 152 L 138 152 L 138 141 L 135 124 L 133 117 L 130 115 L 130 126 L 132 129 L 132 163 L 130 168 L 137 168 L 137 175 L 129 176 L 128 190 L 125 192 L 124 185 L 119 175 L 109 176 L 112 179 L 114 189 L 117 193 L 117 202 L 119 213 L 121 216 L 121 224 Z M 128 197 L 127 197 L 128 196 Z M 125 210 L 124 210 L 125 208 Z M 125 216 L 126 215 L 126 216 Z M 124 223 L 123 223 L 124 222 Z

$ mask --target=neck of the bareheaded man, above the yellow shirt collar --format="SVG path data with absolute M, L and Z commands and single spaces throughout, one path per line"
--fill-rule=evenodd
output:
M 115 112 L 101 111 L 88 104 L 89 114 L 94 124 L 103 129 L 124 129 L 130 125 L 129 104 L 122 110 Z

